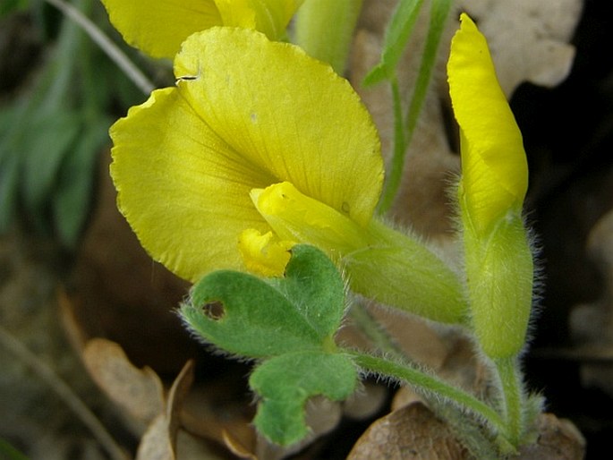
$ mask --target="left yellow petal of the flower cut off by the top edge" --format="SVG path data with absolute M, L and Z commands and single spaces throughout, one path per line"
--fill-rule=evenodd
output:
M 185 38 L 222 25 L 213 0 L 102 0 L 123 39 L 153 57 L 173 58 Z

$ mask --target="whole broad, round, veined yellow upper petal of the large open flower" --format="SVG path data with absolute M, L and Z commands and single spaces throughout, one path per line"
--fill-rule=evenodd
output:
M 154 259 L 192 281 L 244 270 L 241 234 L 270 231 L 250 192 L 272 183 L 370 219 L 379 139 L 328 66 L 259 32 L 214 28 L 188 38 L 175 74 L 176 88 L 154 91 L 111 129 L 119 206 Z

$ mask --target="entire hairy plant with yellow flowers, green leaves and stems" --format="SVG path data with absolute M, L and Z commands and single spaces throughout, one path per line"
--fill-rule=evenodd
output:
M 111 129 L 119 209 L 154 259 L 194 283 L 179 310 L 186 326 L 254 362 L 258 430 L 293 444 L 308 433 L 311 396 L 343 400 L 374 372 L 456 407 L 471 422 L 458 436 L 478 425 L 483 451 L 507 454 L 529 442 L 541 399 L 526 392 L 519 364 L 534 277 L 522 217 L 527 162 L 473 21 L 462 15 L 447 64 L 462 157 L 457 268 L 380 217 L 397 191 L 449 1 L 430 4 L 406 114 L 396 63 L 421 1 L 398 4 L 367 78 L 387 81 L 394 96 L 387 174 L 370 115 L 338 73 L 361 2 L 307 0 L 300 10 L 302 2 L 283 0 L 104 3 L 126 41 L 174 58 L 176 77 Z M 345 13 L 342 33 L 322 35 L 332 8 Z M 297 10 L 298 45 L 285 30 Z M 353 294 L 464 328 L 494 396 L 482 400 L 402 360 L 336 343 Z

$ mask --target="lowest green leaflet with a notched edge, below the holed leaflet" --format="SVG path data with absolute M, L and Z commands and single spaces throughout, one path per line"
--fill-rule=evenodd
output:
M 309 433 L 304 422 L 307 400 L 319 395 L 333 401 L 346 399 L 355 390 L 357 371 L 344 354 L 301 352 L 263 362 L 249 383 L 261 397 L 256 427 L 271 441 L 287 446 Z

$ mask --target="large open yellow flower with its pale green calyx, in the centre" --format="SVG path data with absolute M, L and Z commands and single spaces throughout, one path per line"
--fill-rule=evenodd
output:
M 152 257 L 197 281 L 280 276 L 294 243 L 326 251 L 355 292 L 430 319 L 464 318 L 455 273 L 372 218 L 379 136 L 348 81 L 260 32 L 193 34 L 158 89 L 111 128 L 118 206 Z

